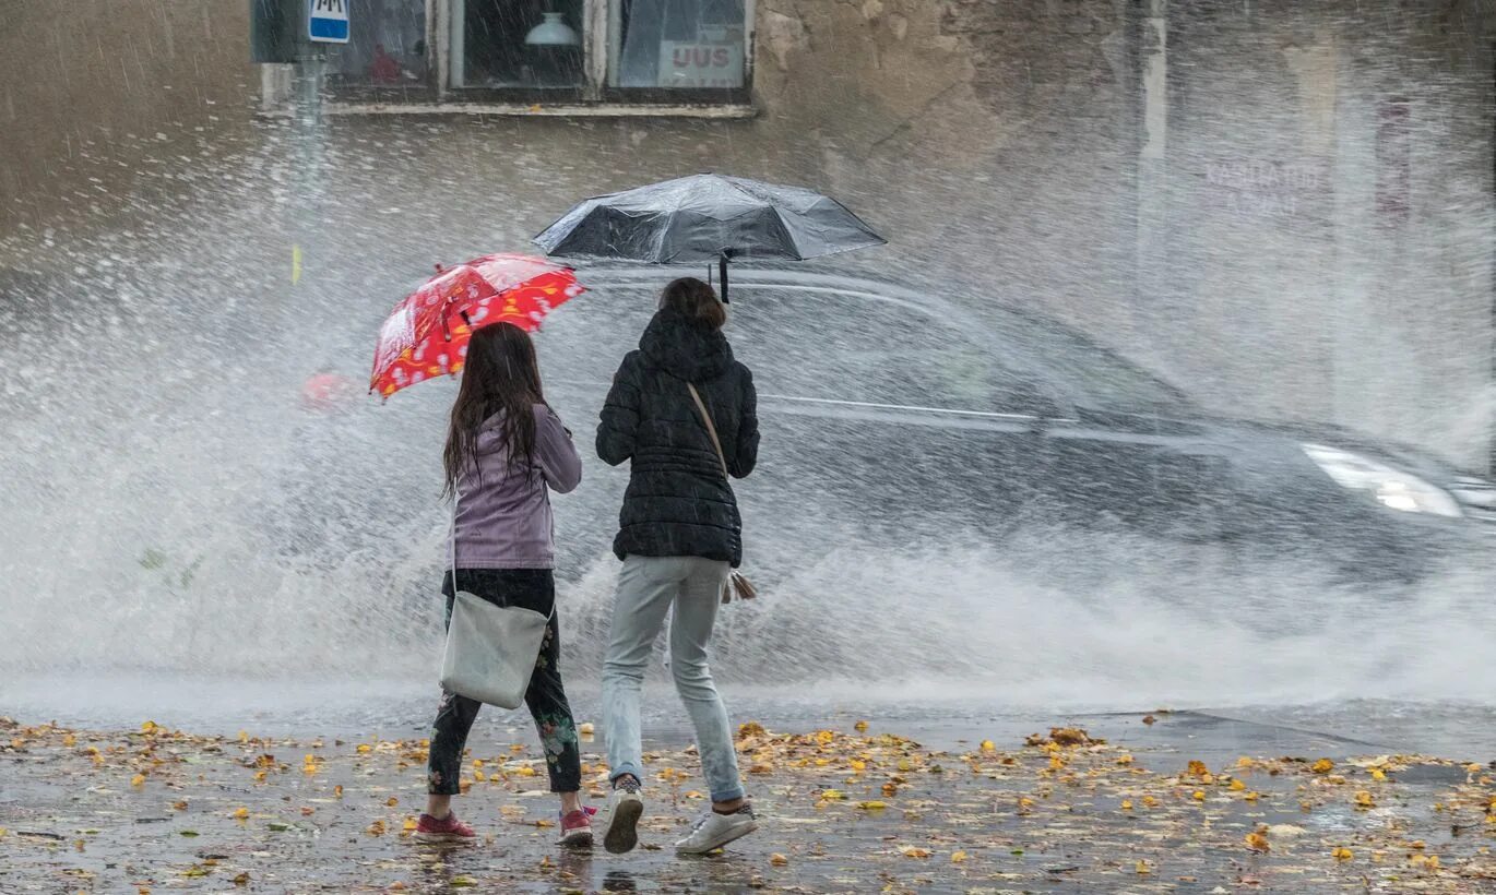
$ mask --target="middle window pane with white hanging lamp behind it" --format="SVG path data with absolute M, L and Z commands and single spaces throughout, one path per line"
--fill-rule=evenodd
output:
M 453 88 L 582 85 L 583 0 L 450 0 Z

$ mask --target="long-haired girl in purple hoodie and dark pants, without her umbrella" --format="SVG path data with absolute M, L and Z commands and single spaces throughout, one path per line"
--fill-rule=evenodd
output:
M 473 330 L 443 460 L 446 493 L 456 504 L 453 571 L 443 580 L 447 620 L 456 590 L 551 617 L 525 705 L 545 747 L 551 790 L 561 796 L 561 841 L 589 844 L 591 811 L 577 796 L 582 762 L 576 725 L 558 666 L 549 498 L 552 490 L 564 495 L 576 489 L 582 459 L 571 433 L 546 403 L 534 342 L 524 329 L 497 323 Z M 480 705 L 441 693 L 431 731 L 429 798 L 416 826 L 419 840 L 476 837 L 452 813 L 452 796 L 461 792 L 462 750 Z

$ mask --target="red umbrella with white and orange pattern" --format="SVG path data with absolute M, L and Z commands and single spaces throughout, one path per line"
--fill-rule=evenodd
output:
M 455 375 L 474 329 L 513 323 L 534 332 L 552 308 L 585 291 L 570 267 L 533 256 L 483 256 L 437 270 L 380 327 L 370 391 L 389 397 Z

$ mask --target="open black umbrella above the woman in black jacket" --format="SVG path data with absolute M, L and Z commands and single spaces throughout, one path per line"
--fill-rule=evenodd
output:
M 732 258 L 803 261 L 886 241 L 857 215 L 800 187 L 700 173 L 588 199 L 536 236 L 549 256 L 654 264 Z

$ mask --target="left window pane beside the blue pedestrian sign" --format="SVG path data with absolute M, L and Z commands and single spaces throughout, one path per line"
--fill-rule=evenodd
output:
M 328 45 L 328 78 L 352 87 L 426 84 L 425 0 L 361 0 L 349 15 L 349 42 Z

